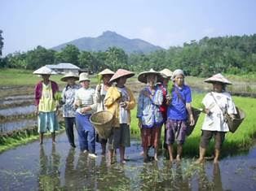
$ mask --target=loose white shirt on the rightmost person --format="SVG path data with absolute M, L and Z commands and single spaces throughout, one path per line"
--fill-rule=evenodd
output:
M 236 106 L 232 101 L 231 95 L 227 92 L 212 92 L 212 94 L 207 93 L 205 98 L 203 98 L 202 103 L 204 104 L 205 109 L 210 110 L 211 114 L 205 115 L 205 120 L 201 129 L 208 131 L 228 132 L 229 129 L 224 120 L 223 111 L 227 110 L 228 114 L 236 114 Z

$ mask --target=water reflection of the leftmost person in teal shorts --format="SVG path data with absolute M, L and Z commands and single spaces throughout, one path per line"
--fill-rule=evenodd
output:
M 60 188 L 60 154 L 55 151 L 55 144 L 52 144 L 51 155 L 47 156 L 43 145 L 40 147 L 40 171 L 39 189 L 54 190 Z

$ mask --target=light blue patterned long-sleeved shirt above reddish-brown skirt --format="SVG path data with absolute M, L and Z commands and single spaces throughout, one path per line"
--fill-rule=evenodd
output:
M 139 93 L 137 118 L 141 119 L 143 128 L 152 128 L 155 125 L 161 125 L 163 122 L 160 111 L 160 106 L 163 102 L 163 93 L 161 89 L 155 88 L 156 91 L 152 94 L 152 98 L 148 98 L 143 95 L 143 91 L 145 90 L 151 93 L 148 87 Z

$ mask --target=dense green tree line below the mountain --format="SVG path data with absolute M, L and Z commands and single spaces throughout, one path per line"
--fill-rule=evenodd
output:
M 1 37 L 1 40 L 3 38 Z M 3 43 L 0 43 L 2 50 Z M 0 50 L 0 53 L 1 53 Z M 92 72 L 108 67 L 113 71 L 125 68 L 142 72 L 149 68 L 161 70 L 181 68 L 189 76 L 210 76 L 213 73 L 254 74 L 256 72 L 256 34 L 231 37 L 204 37 L 183 46 L 157 50 L 150 54 L 126 54 L 117 47 L 106 51 L 80 51 L 68 45 L 60 52 L 42 46 L 27 52 L 7 54 L 1 67 L 36 69 L 46 64 L 73 63 Z

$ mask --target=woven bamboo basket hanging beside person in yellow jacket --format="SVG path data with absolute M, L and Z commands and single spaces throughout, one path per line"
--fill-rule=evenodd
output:
M 110 111 L 99 111 L 90 116 L 90 123 L 95 126 L 99 137 L 108 139 L 112 132 L 113 114 Z

